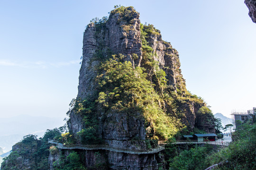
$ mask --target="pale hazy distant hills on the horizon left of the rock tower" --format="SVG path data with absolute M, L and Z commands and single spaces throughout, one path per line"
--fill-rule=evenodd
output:
M 64 125 L 62 118 L 35 117 L 19 115 L 11 118 L 1 118 L 0 147 L 4 152 L 10 151 L 12 145 L 19 142 L 27 134 L 42 137 L 46 129 L 53 129 Z

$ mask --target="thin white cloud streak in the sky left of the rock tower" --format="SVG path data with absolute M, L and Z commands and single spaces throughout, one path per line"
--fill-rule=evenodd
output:
M 80 60 L 71 60 L 71 61 L 62 61 L 56 63 L 47 63 L 46 61 L 11 61 L 7 59 L 0 59 L 0 66 L 9 66 L 9 67 L 22 67 L 22 68 L 48 68 L 48 67 L 64 67 L 72 64 L 79 64 Z

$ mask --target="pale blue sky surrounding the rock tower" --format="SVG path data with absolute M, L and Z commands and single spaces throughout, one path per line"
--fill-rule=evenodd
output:
M 0 118 L 64 118 L 84 29 L 119 4 L 179 51 L 187 89 L 213 113 L 256 107 L 256 24 L 243 0 L 0 0 Z

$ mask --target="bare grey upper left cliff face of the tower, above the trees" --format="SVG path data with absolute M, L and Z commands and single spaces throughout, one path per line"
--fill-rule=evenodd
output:
M 139 13 L 133 8 L 129 15 L 132 19 L 122 20 L 120 13 L 110 15 L 108 21 L 102 25 L 95 26 L 91 23 L 83 34 L 82 66 L 80 69 L 79 86 L 77 97 L 85 98 L 95 92 L 95 77 L 97 76 L 95 66 L 100 62 L 95 51 L 101 51 L 102 58 L 108 57 L 108 51 L 113 54 L 123 54 L 125 60 L 131 61 L 137 66 L 140 65 L 142 51 L 140 40 Z M 137 54 L 138 59 L 134 60 L 132 54 Z

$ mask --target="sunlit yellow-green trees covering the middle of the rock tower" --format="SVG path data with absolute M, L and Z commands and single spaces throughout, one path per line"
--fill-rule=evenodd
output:
M 167 139 L 173 136 L 182 125 L 177 119 L 167 116 L 159 105 L 168 96 L 162 96 L 154 89 L 155 84 L 146 79 L 144 68 L 134 69 L 130 62 L 122 63 L 119 60 L 110 59 L 101 65 L 104 74 L 97 77 L 101 89 L 97 102 L 107 110 L 128 110 L 129 114 L 132 114 L 131 109 L 141 112 L 146 122 L 154 128 L 155 133 L 151 134 L 153 138 Z M 160 86 L 166 84 L 164 72 L 158 74 L 156 79 Z

